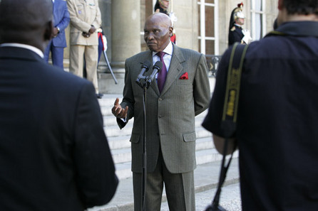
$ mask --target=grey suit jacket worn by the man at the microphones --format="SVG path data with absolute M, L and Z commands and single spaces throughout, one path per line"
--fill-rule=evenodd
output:
M 128 119 L 134 117 L 130 138 L 132 171 L 141 172 L 143 154 L 143 89 L 135 80 L 145 60 L 153 61 L 150 50 L 125 62 L 125 87 L 122 107 L 128 105 Z M 150 67 L 152 70 L 152 67 Z M 152 71 L 148 71 L 150 75 Z M 180 76 L 188 72 L 188 80 Z M 163 91 L 153 82 L 147 90 L 147 169 L 154 171 L 159 148 L 171 173 L 193 171 L 195 162 L 195 115 L 207 109 L 210 84 L 205 56 L 173 44 L 173 55 Z M 118 124 L 125 124 L 118 119 Z

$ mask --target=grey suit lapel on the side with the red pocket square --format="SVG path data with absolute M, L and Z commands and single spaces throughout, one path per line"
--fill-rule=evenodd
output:
M 165 94 L 165 92 L 169 90 L 171 85 L 173 85 L 173 82 L 175 82 L 175 80 L 178 80 L 180 71 L 183 70 L 182 63 L 184 62 L 185 62 L 185 58 L 183 57 L 183 53 L 180 51 L 180 48 L 178 48 L 177 45 L 173 44 L 173 56 L 171 58 L 168 75 L 165 80 L 165 86 L 163 87 L 163 91 L 161 92 L 161 94 Z M 157 85 L 157 90 L 158 90 L 158 85 Z

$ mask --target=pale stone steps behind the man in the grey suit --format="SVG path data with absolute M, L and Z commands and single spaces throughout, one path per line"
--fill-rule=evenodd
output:
M 133 119 L 130 119 L 123 129 L 119 129 L 116 117 L 111 113 L 111 108 L 113 107 L 116 97 L 121 101 L 122 96 L 120 94 L 105 94 L 102 99 L 98 99 L 98 102 L 101 105 L 108 144 L 113 154 L 113 161 L 116 164 L 116 174 L 119 179 L 125 179 L 132 177 L 130 171 L 131 152 L 129 140 L 133 127 Z M 196 159 L 198 165 L 220 161 L 222 159 L 222 156 L 220 156 L 215 149 L 212 134 L 201 126 L 206 114 L 207 110 L 195 117 L 195 131 L 197 136 Z

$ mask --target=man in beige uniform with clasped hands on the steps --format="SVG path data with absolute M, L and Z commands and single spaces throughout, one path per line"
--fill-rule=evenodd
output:
M 101 10 L 97 0 L 67 0 L 70 13 L 70 72 L 83 77 L 85 58 L 86 79 L 93 82 L 98 92 L 98 33 L 101 28 Z

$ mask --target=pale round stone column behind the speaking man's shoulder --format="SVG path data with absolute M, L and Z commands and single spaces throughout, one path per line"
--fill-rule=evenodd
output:
M 111 15 L 112 67 L 140 52 L 140 1 L 113 0 Z

